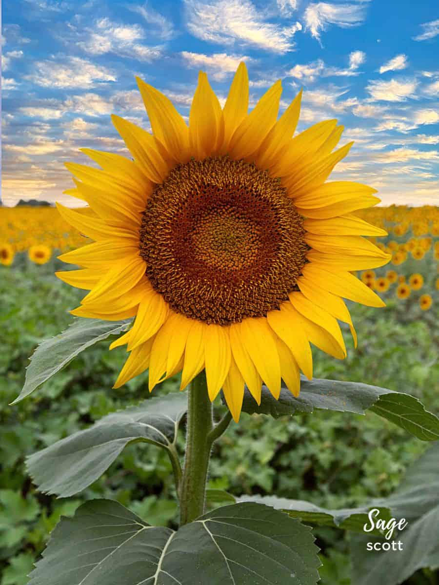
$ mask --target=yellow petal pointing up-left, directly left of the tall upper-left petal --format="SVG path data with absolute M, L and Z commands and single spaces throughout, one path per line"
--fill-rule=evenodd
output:
M 145 176 L 153 183 L 162 183 L 170 163 L 160 153 L 155 137 L 124 118 L 112 115 L 111 119 Z

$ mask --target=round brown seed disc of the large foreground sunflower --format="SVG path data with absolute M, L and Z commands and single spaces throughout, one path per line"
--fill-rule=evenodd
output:
M 266 171 L 228 157 L 191 160 L 149 198 L 140 256 L 174 311 L 227 325 L 287 300 L 305 263 L 304 233 Z

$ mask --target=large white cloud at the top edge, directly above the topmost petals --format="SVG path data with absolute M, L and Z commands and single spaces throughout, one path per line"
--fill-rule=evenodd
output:
M 187 28 L 211 43 L 247 43 L 284 54 L 294 47 L 293 36 L 302 26 L 266 22 L 250 0 L 184 0 Z

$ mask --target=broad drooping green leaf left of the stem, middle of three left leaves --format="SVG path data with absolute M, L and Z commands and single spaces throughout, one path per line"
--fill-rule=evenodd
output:
M 149 398 L 30 455 L 28 472 L 44 493 L 77 494 L 97 480 L 130 443 L 173 448 L 186 409 L 186 393 Z

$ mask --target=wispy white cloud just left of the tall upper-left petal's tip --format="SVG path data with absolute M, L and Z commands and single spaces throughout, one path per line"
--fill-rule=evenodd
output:
M 68 57 L 59 61 L 37 61 L 35 73 L 28 75 L 26 79 L 36 85 L 50 88 L 89 88 L 97 81 L 116 81 L 106 67 L 97 66 L 80 57 Z

